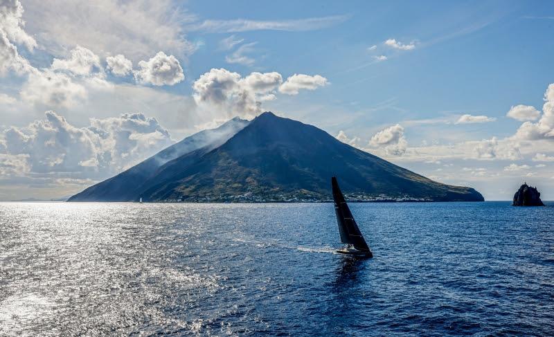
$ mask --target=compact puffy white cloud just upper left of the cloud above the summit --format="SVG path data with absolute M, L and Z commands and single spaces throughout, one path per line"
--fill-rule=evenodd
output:
M 137 82 L 142 84 L 173 85 L 185 79 L 179 60 L 163 51 L 147 61 L 139 62 L 140 69 L 134 72 Z

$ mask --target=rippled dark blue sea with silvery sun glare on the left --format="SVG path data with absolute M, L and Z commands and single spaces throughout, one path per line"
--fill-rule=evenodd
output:
M 0 203 L 2 336 L 546 336 L 554 205 Z

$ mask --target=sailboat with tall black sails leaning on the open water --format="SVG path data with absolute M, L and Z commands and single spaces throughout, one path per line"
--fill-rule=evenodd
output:
M 368 244 L 366 244 L 366 240 L 359 231 L 352 212 L 350 212 L 350 208 L 346 204 L 346 200 L 339 188 L 339 183 L 337 183 L 337 178 L 334 176 L 331 178 L 331 186 L 333 190 L 334 212 L 337 214 L 341 242 L 346 244 L 337 253 L 373 257 Z

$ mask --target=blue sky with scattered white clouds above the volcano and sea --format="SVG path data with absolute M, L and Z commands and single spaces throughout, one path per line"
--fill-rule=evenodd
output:
M 554 200 L 552 1 L 0 0 L 0 201 L 263 111 L 436 181 Z

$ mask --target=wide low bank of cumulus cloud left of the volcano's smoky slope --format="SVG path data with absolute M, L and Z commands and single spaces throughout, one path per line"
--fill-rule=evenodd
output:
M 73 172 L 101 178 L 120 172 L 172 143 L 169 132 L 155 118 L 142 113 L 92 118 L 89 127 L 75 127 L 54 111 L 46 111 L 44 120 L 23 128 L 10 127 L 4 131 L 3 139 L 4 156 L 17 162 L 10 167 L 28 167 L 26 172 Z

